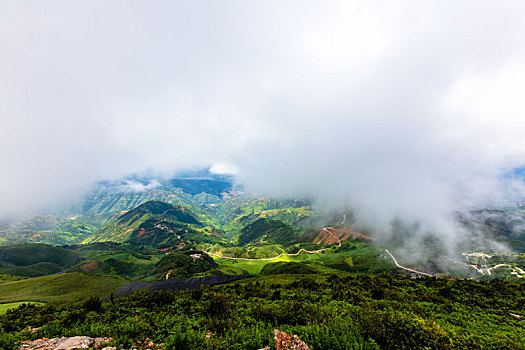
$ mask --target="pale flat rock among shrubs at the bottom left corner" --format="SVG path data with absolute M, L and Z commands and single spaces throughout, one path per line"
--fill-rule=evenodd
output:
M 112 338 L 63 337 L 53 339 L 24 340 L 20 350 L 73 350 L 102 349 Z

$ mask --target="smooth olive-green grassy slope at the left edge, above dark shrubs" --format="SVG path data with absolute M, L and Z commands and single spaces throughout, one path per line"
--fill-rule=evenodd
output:
M 129 280 L 122 277 L 64 273 L 0 284 L 0 303 L 27 300 L 60 303 L 89 297 L 107 298 Z

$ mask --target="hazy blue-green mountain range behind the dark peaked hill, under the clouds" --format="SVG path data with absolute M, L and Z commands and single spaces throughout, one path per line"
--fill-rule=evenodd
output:
M 174 179 L 130 176 L 97 183 L 89 193 L 53 215 L 35 215 L 20 222 L 1 221 L 0 246 L 28 242 L 67 245 L 101 240 L 124 242 L 128 236 L 147 243 L 148 227 L 154 227 L 154 222 L 141 227 L 145 233 L 140 237 L 140 231 L 134 235 L 130 233 L 140 226 L 133 220 L 146 221 L 142 213 L 132 211 L 148 202 L 172 204 L 192 212 L 194 220 L 181 217 L 184 213 L 165 218 L 179 223 L 178 227 L 168 225 L 173 232 L 186 230 L 180 224 L 195 226 L 194 221 L 198 221 L 202 227 L 211 228 L 209 233 L 229 241 L 235 241 L 242 228 L 260 218 L 295 225 L 312 214 L 308 201 L 244 195 L 234 186 L 232 176 L 211 174 L 207 169 L 181 173 Z M 155 208 L 148 210 L 148 215 L 160 215 Z M 121 217 L 117 223 L 116 219 Z M 120 230 L 124 227 L 124 231 Z M 128 232 L 130 228 L 133 230 Z M 157 242 L 158 239 L 155 244 Z

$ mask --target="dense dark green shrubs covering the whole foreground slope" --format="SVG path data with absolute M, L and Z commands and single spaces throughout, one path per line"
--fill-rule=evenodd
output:
M 20 339 L 110 336 L 169 349 L 260 349 L 273 329 L 312 349 L 523 349 L 525 291 L 494 280 L 394 275 L 272 275 L 175 293 L 136 293 L 45 306 L 0 317 L 0 347 Z M 36 332 L 23 331 L 37 327 Z M 133 345 L 135 344 L 135 345 Z

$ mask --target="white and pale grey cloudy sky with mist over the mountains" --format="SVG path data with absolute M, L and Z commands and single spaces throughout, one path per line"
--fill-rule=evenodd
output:
M 213 166 L 451 232 L 520 196 L 522 1 L 0 0 L 0 213 Z

